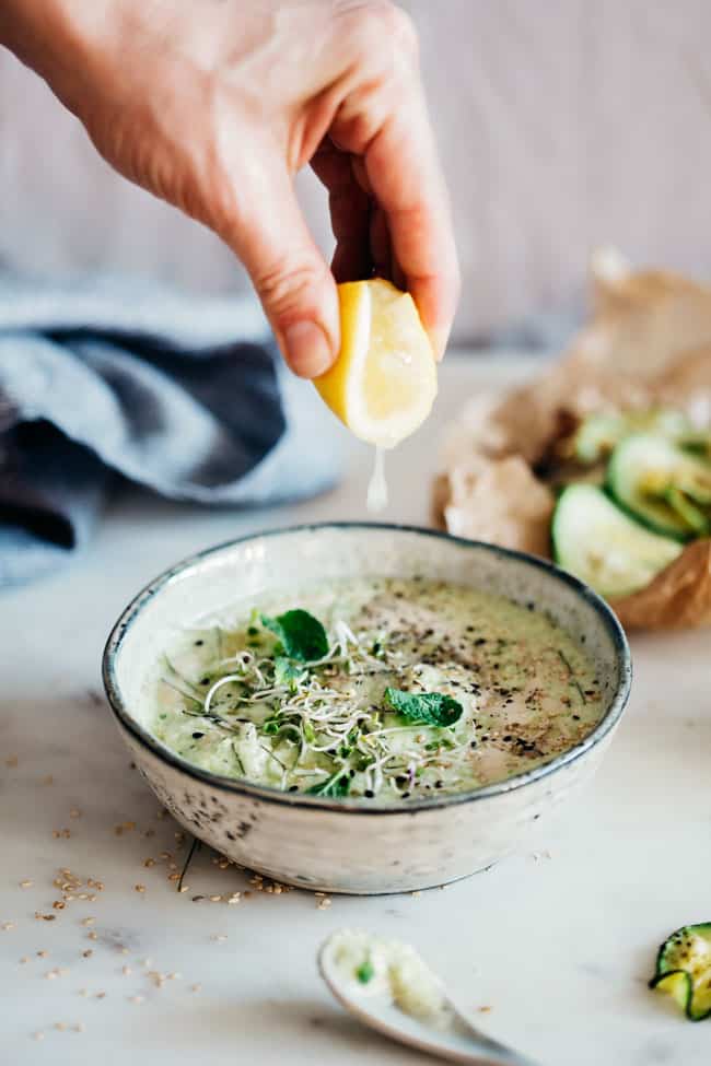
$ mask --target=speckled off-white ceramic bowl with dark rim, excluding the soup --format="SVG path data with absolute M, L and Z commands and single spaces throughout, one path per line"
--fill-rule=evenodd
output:
M 364 575 L 424 573 L 534 602 L 585 645 L 605 713 L 586 739 L 544 766 L 476 792 L 409 801 L 329 800 L 207 773 L 150 733 L 142 692 L 176 626 L 235 600 Z M 397 526 L 305 526 L 247 537 L 173 566 L 127 607 L 104 652 L 104 684 L 141 773 L 175 818 L 230 858 L 279 881 L 329 892 L 401 892 L 491 866 L 534 821 L 591 777 L 627 702 L 630 654 L 609 608 L 533 557 Z

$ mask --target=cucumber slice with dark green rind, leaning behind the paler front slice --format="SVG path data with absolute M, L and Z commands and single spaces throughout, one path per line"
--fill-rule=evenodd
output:
M 636 433 L 607 468 L 615 500 L 656 532 L 679 540 L 711 532 L 711 465 L 663 436 Z

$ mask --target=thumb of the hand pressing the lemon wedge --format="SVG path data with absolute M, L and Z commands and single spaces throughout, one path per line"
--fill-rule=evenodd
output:
M 340 345 L 336 282 L 285 169 L 272 172 L 249 200 L 248 216 L 230 243 L 252 278 L 287 363 L 300 377 L 317 377 Z

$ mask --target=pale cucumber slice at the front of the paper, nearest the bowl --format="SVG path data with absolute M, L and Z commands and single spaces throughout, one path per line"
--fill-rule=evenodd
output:
M 678 541 L 650 532 L 588 484 L 561 492 L 551 532 L 556 562 L 610 599 L 645 588 L 683 551 Z

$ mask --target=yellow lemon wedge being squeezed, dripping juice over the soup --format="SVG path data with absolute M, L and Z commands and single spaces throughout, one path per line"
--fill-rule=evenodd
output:
M 341 347 L 314 385 L 361 441 L 392 448 L 418 429 L 436 396 L 436 363 L 415 301 L 389 281 L 338 286 Z

